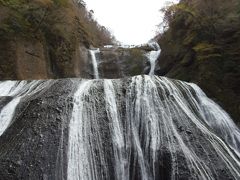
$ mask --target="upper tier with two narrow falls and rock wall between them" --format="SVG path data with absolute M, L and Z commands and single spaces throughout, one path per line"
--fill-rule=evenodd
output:
M 154 75 L 155 70 L 159 70 L 157 58 L 161 50 L 156 42 L 126 47 L 109 45 L 89 52 L 89 65 L 85 69 L 94 79 Z M 88 77 L 87 74 L 84 77 Z

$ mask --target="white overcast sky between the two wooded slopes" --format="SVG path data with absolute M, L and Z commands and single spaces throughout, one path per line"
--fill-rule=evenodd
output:
M 163 15 L 159 11 L 167 2 L 177 0 L 84 0 L 94 11 L 99 24 L 107 27 L 122 44 L 148 42 L 157 32 Z

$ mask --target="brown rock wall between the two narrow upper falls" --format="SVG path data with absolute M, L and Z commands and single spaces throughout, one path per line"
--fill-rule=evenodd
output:
M 149 66 L 147 52 L 139 47 L 100 48 L 97 54 L 100 77 L 114 79 L 146 74 Z

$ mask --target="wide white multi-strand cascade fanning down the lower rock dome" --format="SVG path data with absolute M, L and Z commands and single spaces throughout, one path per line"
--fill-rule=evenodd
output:
M 136 76 L 77 86 L 68 180 L 240 178 L 239 129 L 195 84 Z

